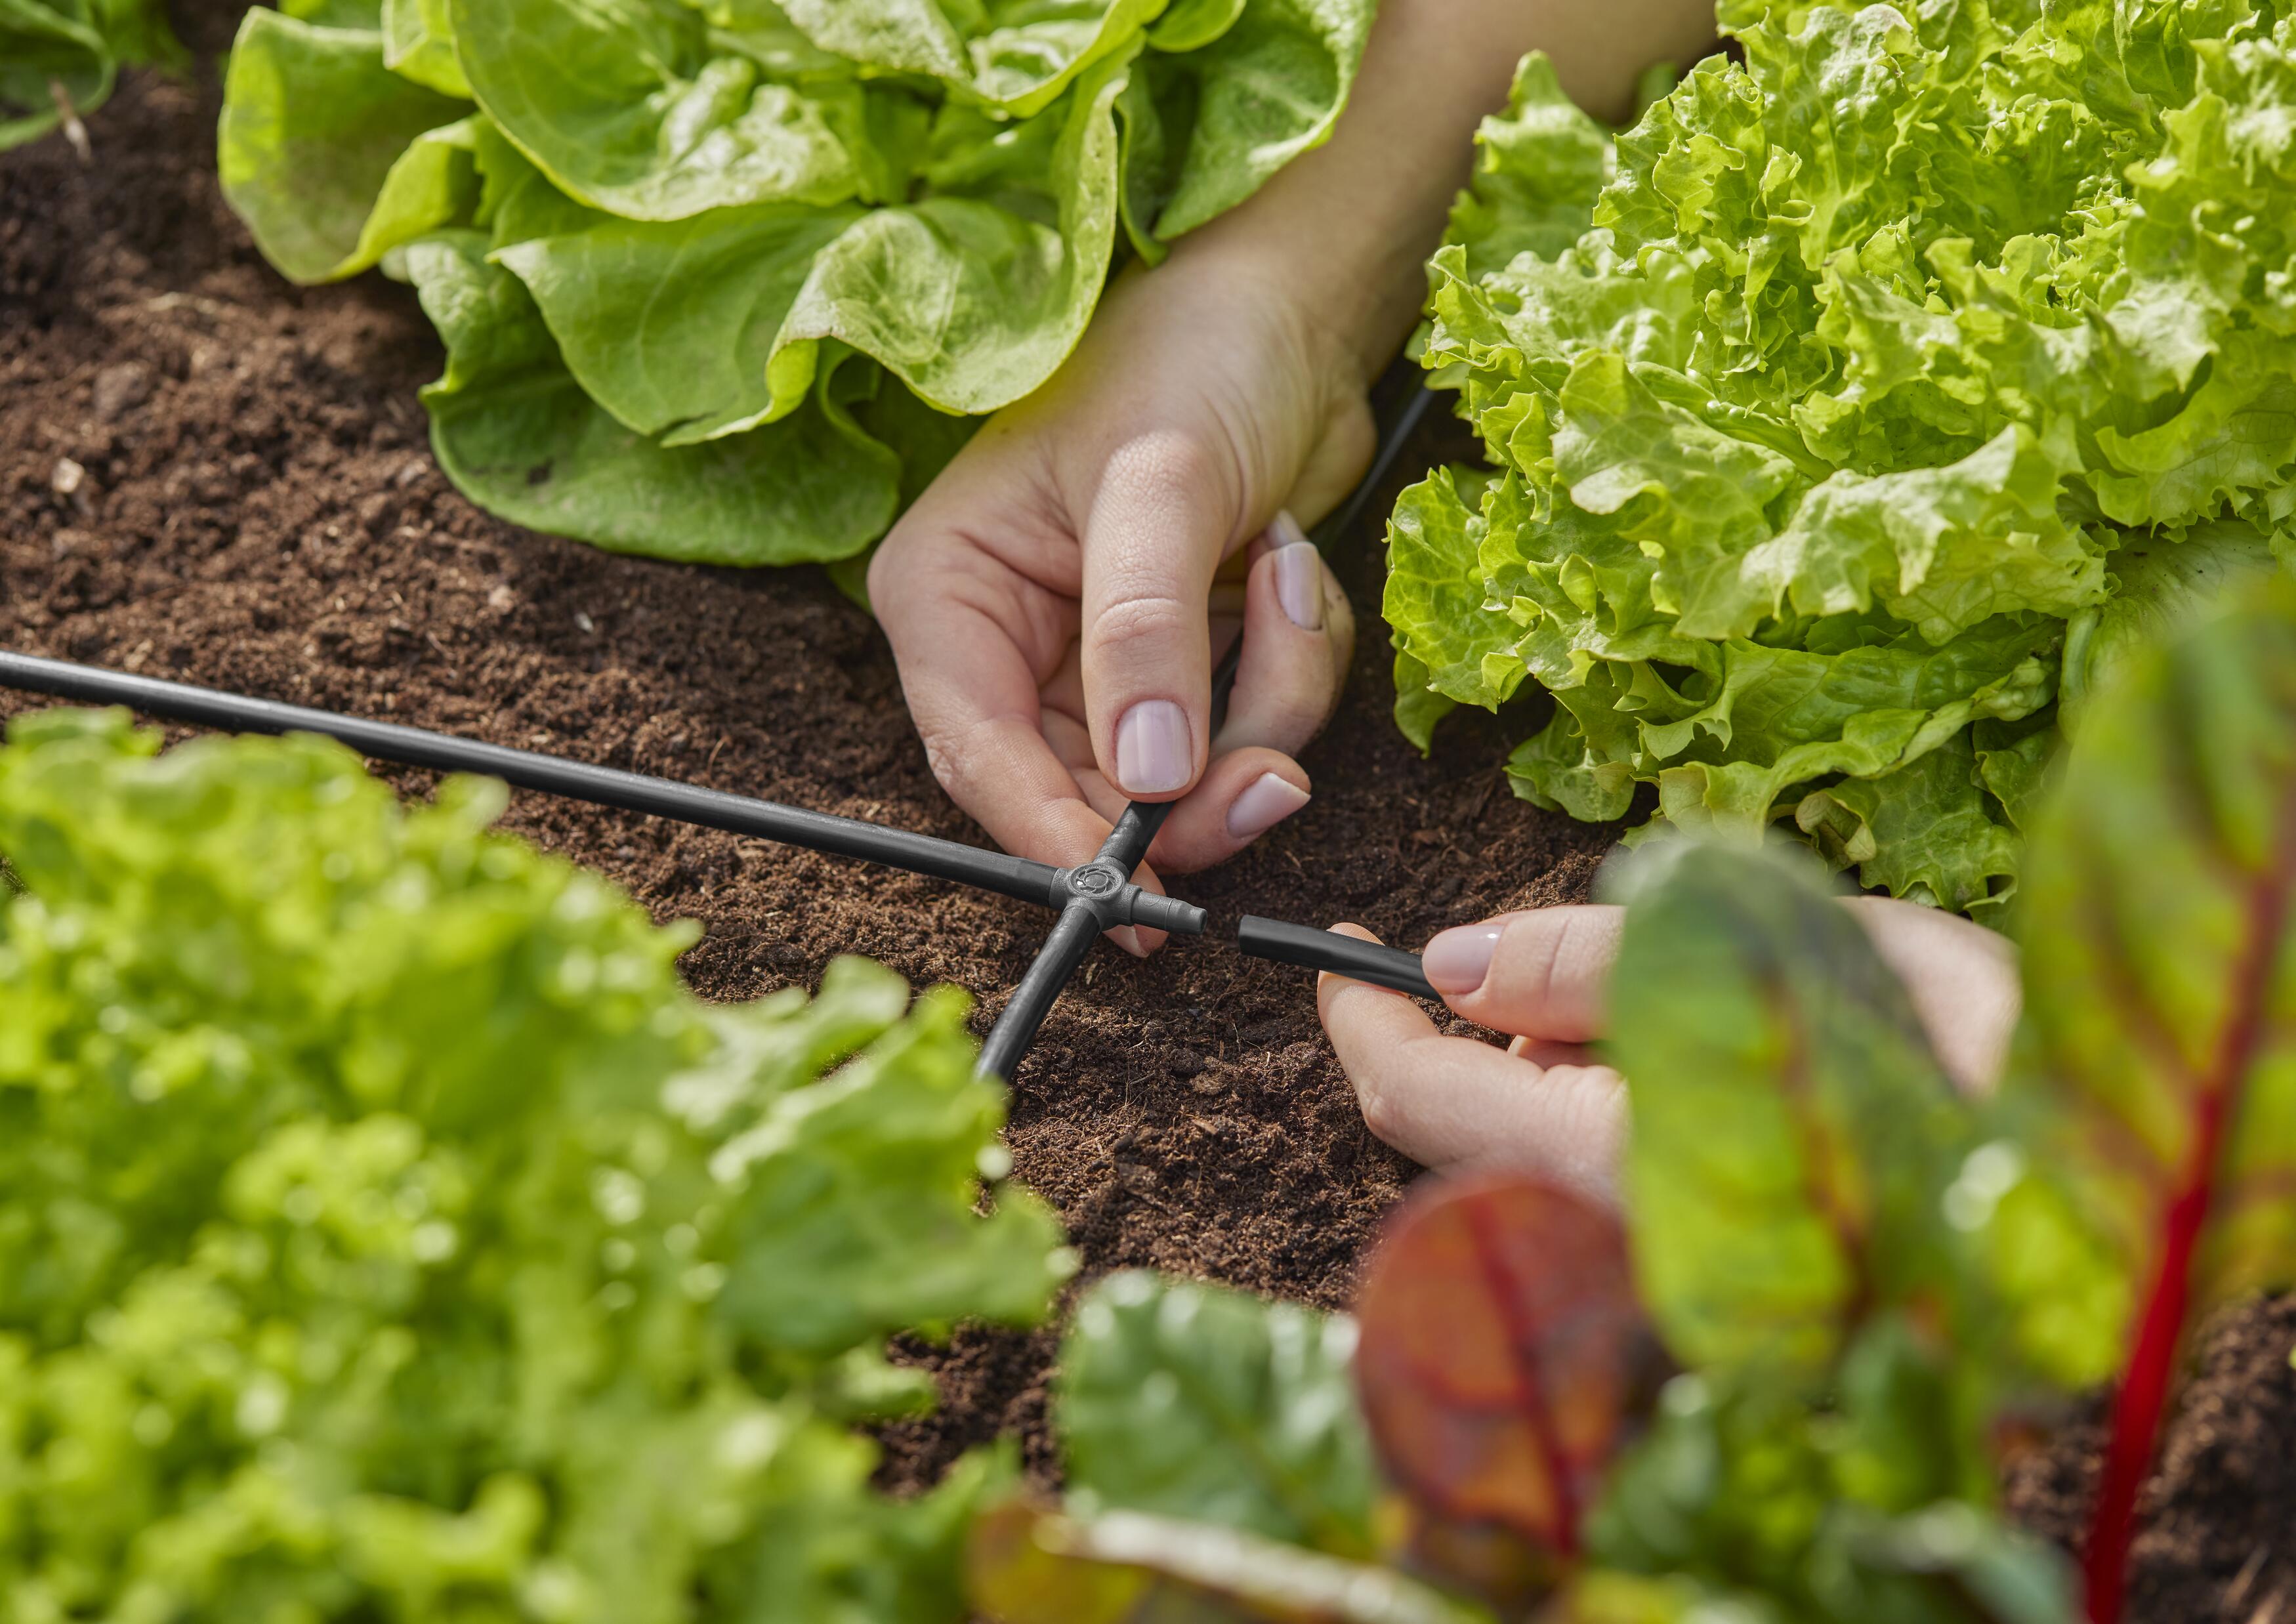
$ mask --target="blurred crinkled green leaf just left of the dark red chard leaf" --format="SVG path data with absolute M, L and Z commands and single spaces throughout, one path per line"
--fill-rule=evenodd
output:
M 1143 1273 L 1104 1279 L 1061 1346 L 1070 1505 L 1373 1555 L 1378 1475 L 1352 1360 L 1348 1318 Z

